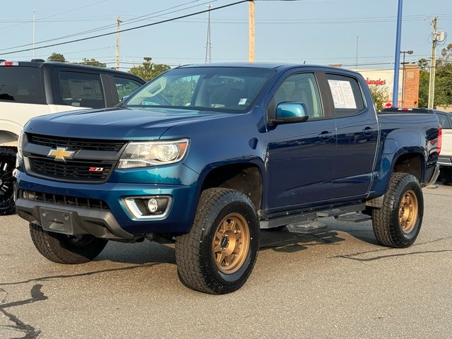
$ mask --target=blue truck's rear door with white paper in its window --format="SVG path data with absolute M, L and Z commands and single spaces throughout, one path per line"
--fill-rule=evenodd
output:
M 373 101 L 365 100 L 357 78 L 326 73 L 337 131 L 335 171 L 331 198 L 362 197 L 369 191 L 378 141 L 378 121 Z

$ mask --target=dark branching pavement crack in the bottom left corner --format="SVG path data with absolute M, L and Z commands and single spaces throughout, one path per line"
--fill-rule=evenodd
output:
M 25 333 L 24 337 L 16 337 L 11 339 L 36 339 L 40 335 L 41 331 L 37 330 L 31 325 L 27 325 L 23 321 L 21 321 L 18 316 L 9 313 L 6 311 L 6 308 L 16 307 L 25 304 L 32 304 L 33 302 L 41 302 L 47 300 L 46 295 L 41 291 L 42 285 L 37 284 L 34 285 L 30 291 L 31 298 L 19 300 L 17 302 L 4 303 L 6 297 L 8 296 L 8 292 L 0 287 L 0 290 L 6 293 L 6 297 L 2 300 L 0 304 L 0 312 L 8 317 L 9 321 L 11 321 L 14 325 L 10 326 L 0 326 L 0 328 L 8 328 L 10 330 L 20 331 Z

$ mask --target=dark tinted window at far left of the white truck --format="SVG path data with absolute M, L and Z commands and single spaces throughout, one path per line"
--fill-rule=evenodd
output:
M 44 104 L 40 69 L 35 67 L 0 67 L 0 102 Z

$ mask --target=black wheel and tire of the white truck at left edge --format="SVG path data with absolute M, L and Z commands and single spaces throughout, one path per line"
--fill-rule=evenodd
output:
M 13 170 L 16 168 L 16 148 L 0 148 L 0 215 L 16 212 Z

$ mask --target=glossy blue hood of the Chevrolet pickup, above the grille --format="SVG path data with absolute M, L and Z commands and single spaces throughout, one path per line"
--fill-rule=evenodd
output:
M 179 124 L 223 119 L 234 114 L 191 109 L 110 108 L 49 114 L 31 119 L 28 133 L 73 138 L 153 140 Z

